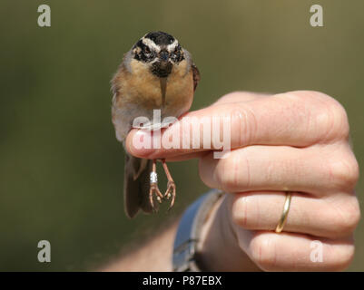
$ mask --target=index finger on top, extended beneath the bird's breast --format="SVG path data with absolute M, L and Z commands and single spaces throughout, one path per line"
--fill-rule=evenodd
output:
M 197 132 L 197 136 L 192 132 Z M 164 134 L 175 146 L 161 142 L 157 149 L 136 148 L 133 146 L 135 131 L 128 135 L 126 146 L 133 155 L 149 159 L 252 144 L 307 147 L 347 138 L 349 124 L 345 111 L 329 96 L 318 92 L 288 92 L 192 111 L 163 131 Z M 137 140 L 140 136 L 136 137 Z

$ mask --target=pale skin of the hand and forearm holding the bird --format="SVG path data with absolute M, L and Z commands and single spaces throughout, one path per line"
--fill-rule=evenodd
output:
M 202 181 L 229 192 L 202 230 L 199 251 L 205 270 L 347 268 L 360 218 L 354 192 L 359 166 L 349 144 L 348 117 L 339 102 L 320 92 L 233 92 L 186 116 L 216 115 L 231 117 L 231 153 L 225 159 L 214 159 L 212 150 L 136 149 L 133 136 L 141 134 L 136 130 L 126 140 L 127 150 L 136 157 L 199 159 Z M 287 190 L 293 192 L 290 212 L 277 234 Z M 176 227 L 177 222 L 106 270 L 170 271 Z M 321 242 L 322 262 L 310 259 L 312 241 Z M 159 254 L 158 259 L 147 253 Z

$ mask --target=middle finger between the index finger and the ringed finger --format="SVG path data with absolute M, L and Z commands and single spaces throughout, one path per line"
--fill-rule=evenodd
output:
M 351 192 L 359 177 L 357 161 L 346 144 L 294 148 L 249 146 L 232 150 L 226 159 L 212 152 L 200 160 L 200 176 L 211 188 L 227 192 L 282 190 L 316 196 Z

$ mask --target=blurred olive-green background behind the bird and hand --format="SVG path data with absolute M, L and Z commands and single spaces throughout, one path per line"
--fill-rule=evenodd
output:
M 37 25 L 50 5 L 52 26 Z M 310 5 L 324 27 L 310 26 Z M 0 5 L 0 270 L 90 270 L 162 227 L 207 188 L 197 161 L 172 164 L 171 214 L 123 213 L 123 149 L 109 81 L 143 34 L 175 35 L 202 73 L 193 109 L 235 90 L 317 90 L 349 114 L 364 162 L 364 2 L 10 1 Z M 189 182 L 182 182 L 188 179 Z M 363 202 L 363 180 L 358 194 Z M 364 229 L 350 270 L 364 270 Z M 37 243 L 52 244 L 38 263 Z

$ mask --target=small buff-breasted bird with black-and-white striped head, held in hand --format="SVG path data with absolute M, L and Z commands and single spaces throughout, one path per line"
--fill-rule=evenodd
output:
M 161 111 L 161 120 L 178 118 L 189 111 L 199 81 L 200 73 L 191 53 L 176 38 L 160 31 L 145 34 L 124 54 L 113 76 L 112 120 L 116 139 L 125 147 L 133 120 L 143 116 L 152 121 L 153 110 Z M 145 213 L 156 210 L 154 198 L 159 202 L 171 198 L 170 208 L 174 204 L 176 186 L 171 173 L 165 160 L 160 160 L 168 179 L 167 190 L 162 194 L 156 161 L 135 158 L 125 151 L 123 194 L 129 218 L 139 209 Z

